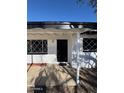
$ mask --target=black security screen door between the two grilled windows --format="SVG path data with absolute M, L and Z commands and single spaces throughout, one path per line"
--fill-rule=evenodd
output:
M 58 62 L 68 61 L 68 42 L 67 40 L 57 40 L 57 60 Z

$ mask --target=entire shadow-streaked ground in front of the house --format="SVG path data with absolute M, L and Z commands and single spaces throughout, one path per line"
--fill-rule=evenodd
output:
M 58 64 L 27 65 L 27 93 L 96 93 L 96 69 L 81 69 L 76 85 L 76 69 Z

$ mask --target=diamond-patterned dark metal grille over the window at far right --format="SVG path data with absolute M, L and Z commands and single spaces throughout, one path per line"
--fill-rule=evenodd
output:
M 83 52 L 97 52 L 97 39 L 84 38 L 83 39 Z

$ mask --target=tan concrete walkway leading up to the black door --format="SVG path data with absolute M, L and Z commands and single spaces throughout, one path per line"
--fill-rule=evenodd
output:
M 69 91 L 67 93 L 72 93 L 76 82 L 62 66 L 57 64 L 32 65 L 27 73 L 27 86 L 28 93 L 34 93 L 31 90 L 36 86 L 47 87 L 45 93 L 52 93 L 50 92 L 52 90 L 53 93 L 66 93 L 67 91 Z M 61 92 L 55 92 L 56 89 Z

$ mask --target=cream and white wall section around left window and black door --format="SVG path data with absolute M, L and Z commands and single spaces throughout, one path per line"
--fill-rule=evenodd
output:
M 28 63 L 56 63 L 57 62 L 57 40 L 68 40 L 68 62 L 71 61 L 72 34 L 28 34 L 28 40 L 47 40 L 48 54 L 27 55 Z M 33 60 L 33 61 L 32 61 Z

